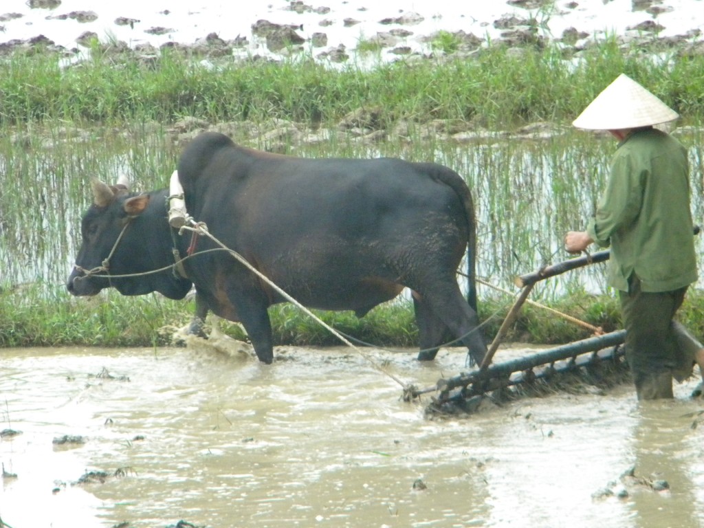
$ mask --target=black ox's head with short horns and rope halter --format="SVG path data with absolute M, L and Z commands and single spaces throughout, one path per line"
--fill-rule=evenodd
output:
M 92 181 L 92 206 L 81 221 L 81 247 L 68 277 L 68 291 L 92 296 L 106 287 L 123 295 L 159 291 L 183 298 L 191 282 L 170 270 L 149 274 L 174 261 L 165 206 L 151 203 L 150 194 L 130 193 L 126 180 L 108 185 Z M 147 275 L 143 275 L 143 274 Z

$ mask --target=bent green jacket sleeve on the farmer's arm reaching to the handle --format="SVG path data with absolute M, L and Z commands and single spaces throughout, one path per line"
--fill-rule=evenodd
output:
M 638 218 L 643 201 L 643 170 L 634 166 L 631 156 L 616 156 L 607 187 L 589 220 L 586 232 L 601 247 L 610 245 L 615 232 Z

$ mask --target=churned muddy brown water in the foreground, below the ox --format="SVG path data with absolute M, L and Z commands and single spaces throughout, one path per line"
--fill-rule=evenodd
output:
M 0 516 L 19 527 L 698 527 L 704 403 L 629 386 L 427 420 L 349 349 L 2 351 Z M 525 351 L 499 351 L 502 354 Z M 419 386 L 463 368 L 373 351 Z M 504 356 L 506 357 L 506 356 Z M 53 444 L 63 435 L 84 444 Z M 653 491 L 620 475 L 661 479 Z M 105 482 L 80 484 L 87 472 Z M 115 476 L 117 473 L 117 476 Z M 418 479 L 425 484 L 425 489 Z M 414 489 L 414 483 L 415 489 Z M 614 495 L 609 495 L 612 492 Z M 619 493 L 627 494 L 619 498 Z

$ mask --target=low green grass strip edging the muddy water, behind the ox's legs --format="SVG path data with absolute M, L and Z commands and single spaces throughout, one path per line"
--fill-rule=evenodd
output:
M 487 339 L 494 339 L 514 298 L 486 296 L 479 317 Z M 612 296 L 571 294 L 551 307 L 605 331 L 620 325 Z M 704 332 L 700 313 L 704 296 L 694 294 L 681 310 L 681 320 L 693 331 Z M 0 347 L 18 346 L 154 346 L 172 343 L 172 334 L 186 326 L 193 313 L 190 301 L 170 301 L 157 294 L 120 296 L 106 290 L 91 298 L 72 298 L 63 288 L 34 284 L 0 292 Z M 333 346 L 342 342 L 295 306 L 269 310 L 277 345 Z M 351 312 L 313 313 L 356 346 L 416 347 L 417 328 L 410 301 L 385 303 L 365 318 Z M 222 321 L 221 330 L 246 340 L 239 325 Z M 699 333 L 700 335 L 701 333 Z M 505 341 L 561 344 L 589 337 L 591 332 L 551 312 L 525 305 Z

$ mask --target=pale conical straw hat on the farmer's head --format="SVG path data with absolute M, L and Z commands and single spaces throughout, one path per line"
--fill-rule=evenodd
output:
M 677 112 L 622 73 L 584 108 L 572 125 L 589 130 L 622 130 L 677 118 Z

